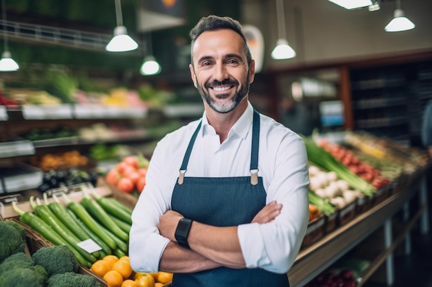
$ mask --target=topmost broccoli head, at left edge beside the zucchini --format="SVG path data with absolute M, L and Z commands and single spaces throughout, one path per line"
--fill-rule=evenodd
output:
M 26 236 L 23 237 L 20 227 L 16 222 L 0 221 L 0 262 L 26 250 Z

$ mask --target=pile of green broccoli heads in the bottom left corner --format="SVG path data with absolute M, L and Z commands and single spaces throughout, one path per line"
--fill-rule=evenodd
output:
M 78 273 L 79 262 L 66 245 L 25 253 L 26 231 L 17 222 L 0 222 L 0 286 L 101 287 L 90 275 Z

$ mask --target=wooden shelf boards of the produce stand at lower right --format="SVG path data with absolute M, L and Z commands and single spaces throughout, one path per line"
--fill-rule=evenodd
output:
M 402 206 L 409 202 L 418 189 L 404 189 L 399 193 L 391 195 L 387 200 L 373 206 L 369 211 L 357 215 L 353 220 L 337 228 L 332 233 L 325 235 L 322 240 L 300 251 L 291 269 L 288 271 L 288 278 L 291 287 L 304 286 L 308 281 L 326 270 L 366 237 L 371 235 L 377 228 L 382 226 L 386 220 L 402 209 Z M 426 191 L 425 191 L 426 192 Z M 404 231 L 397 237 L 395 242 L 386 248 L 373 260 L 369 270 L 360 286 L 373 274 L 387 257 L 392 253 L 395 246 L 399 244 L 404 235 L 413 227 L 414 223 L 422 213 L 426 211 L 426 204 L 416 213 L 409 223 L 406 223 Z

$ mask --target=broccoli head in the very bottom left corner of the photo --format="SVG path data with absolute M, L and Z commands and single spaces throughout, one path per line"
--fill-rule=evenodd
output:
M 32 268 L 17 267 L 0 274 L 0 286 L 43 287 L 43 280 L 43 276 Z

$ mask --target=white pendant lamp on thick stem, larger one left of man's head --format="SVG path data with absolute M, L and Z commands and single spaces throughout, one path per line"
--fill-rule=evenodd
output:
M 138 48 L 137 42 L 129 35 L 128 30 L 123 25 L 123 16 L 121 15 L 120 0 L 115 1 L 115 17 L 117 19 L 117 27 L 114 29 L 114 36 L 110 43 L 106 45 L 105 50 L 108 52 L 127 52 Z

